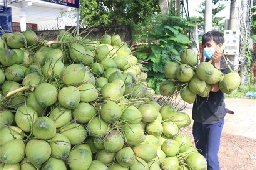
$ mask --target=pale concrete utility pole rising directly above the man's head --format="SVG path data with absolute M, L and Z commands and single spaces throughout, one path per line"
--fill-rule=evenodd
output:
M 204 33 L 212 30 L 212 1 L 205 1 Z

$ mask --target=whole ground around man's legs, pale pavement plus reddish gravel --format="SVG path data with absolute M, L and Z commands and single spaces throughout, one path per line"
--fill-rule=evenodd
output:
M 256 170 L 256 100 L 226 98 L 226 108 L 234 111 L 227 114 L 221 145 L 219 163 L 221 170 Z M 183 110 L 192 116 L 192 104 Z M 192 136 L 192 124 L 181 129 Z

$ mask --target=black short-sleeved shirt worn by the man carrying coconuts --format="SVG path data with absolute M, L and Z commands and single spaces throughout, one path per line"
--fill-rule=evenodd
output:
M 229 66 L 233 69 L 233 64 Z M 228 68 L 225 59 L 221 58 L 221 72 L 228 74 Z M 210 92 L 208 97 L 196 96 L 196 101 L 193 104 L 192 119 L 202 124 L 214 124 L 220 122 L 226 116 L 228 109 L 224 102 L 224 93 L 219 90 L 217 92 Z

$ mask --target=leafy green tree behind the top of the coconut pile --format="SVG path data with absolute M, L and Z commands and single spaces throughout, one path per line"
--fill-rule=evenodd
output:
M 131 25 L 133 41 L 146 41 L 149 16 L 160 12 L 158 0 L 82 0 L 80 23 L 87 27 Z

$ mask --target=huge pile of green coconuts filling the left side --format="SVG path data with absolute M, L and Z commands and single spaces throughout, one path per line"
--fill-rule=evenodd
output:
M 206 170 L 180 131 L 190 117 L 156 101 L 119 35 L 26 30 L 0 45 L 0 170 Z

